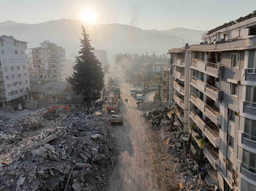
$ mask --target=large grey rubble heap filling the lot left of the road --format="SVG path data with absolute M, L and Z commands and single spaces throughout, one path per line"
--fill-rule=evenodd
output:
M 0 130 L 0 190 L 107 190 L 117 151 L 106 116 L 5 117 Z

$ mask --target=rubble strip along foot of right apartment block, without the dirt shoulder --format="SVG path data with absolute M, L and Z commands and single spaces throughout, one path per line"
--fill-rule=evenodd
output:
M 211 190 L 214 188 L 213 181 L 207 177 L 201 179 L 200 165 L 197 163 L 197 156 L 192 152 L 185 154 L 185 144 L 188 140 L 187 135 L 181 133 L 178 127 L 173 127 L 170 131 L 170 119 L 162 114 L 162 108 L 153 109 L 143 114 L 144 118 L 153 127 L 158 127 L 155 138 L 156 143 L 160 144 L 161 151 L 170 156 L 171 160 L 167 163 L 176 174 L 176 182 L 182 191 L 187 190 Z M 159 136 L 160 135 L 160 136 Z

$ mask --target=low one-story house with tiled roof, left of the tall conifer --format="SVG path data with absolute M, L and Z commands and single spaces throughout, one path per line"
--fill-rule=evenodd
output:
M 49 82 L 28 90 L 28 98 L 35 101 L 56 103 L 78 97 L 68 82 Z

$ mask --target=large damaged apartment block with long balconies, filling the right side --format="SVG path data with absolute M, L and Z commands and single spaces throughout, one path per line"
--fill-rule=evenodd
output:
M 193 137 L 205 137 L 204 154 L 219 188 L 255 191 L 256 12 L 206 32 L 202 40 L 168 51 L 170 106 L 184 133 L 195 123 Z

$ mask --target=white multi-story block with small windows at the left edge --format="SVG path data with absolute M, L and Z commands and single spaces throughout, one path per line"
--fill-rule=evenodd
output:
M 0 36 L 0 104 L 27 97 L 30 89 L 26 67 L 27 42 L 18 41 L 13 36 Z

